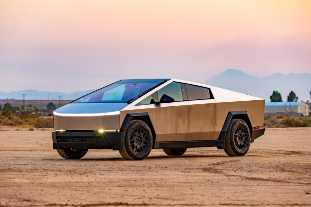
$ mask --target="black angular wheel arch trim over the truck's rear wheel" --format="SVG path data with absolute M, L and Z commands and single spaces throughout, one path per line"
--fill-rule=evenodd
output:
M 246 122 L 248 128 L 249 128 L 250 136 L 252 137 L 253 126 L 252 126 L 252 123 L 250 121 L 250 118 L 248 116 L 247 111 L 229 111 L 228 115 L 226 117 L 225 123 L 224 123 L 224 125 L 223 125 L 223 127 L 221 129 L 220 134 L 219 134 L 218 140 L 225 140 L 226 139 L 226 132 L 227 132 L 227 129 L 229 127 L 230 121 L 232 119 L 242 119 L 242 120 L 244 120 Z M 220 146 L 219 148 L 223 149 L 224 146 Z

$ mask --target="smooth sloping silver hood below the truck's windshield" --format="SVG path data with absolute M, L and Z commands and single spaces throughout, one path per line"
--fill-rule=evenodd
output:
M 119 114 L 127 103 L 70 103 L 54 111 L 57 116 L 101 116 Z

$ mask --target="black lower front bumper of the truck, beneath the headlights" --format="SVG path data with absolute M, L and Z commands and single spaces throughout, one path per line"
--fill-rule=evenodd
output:
M 123 132 L 70 131 L 52 132 L 53 148 L 121 149 Z

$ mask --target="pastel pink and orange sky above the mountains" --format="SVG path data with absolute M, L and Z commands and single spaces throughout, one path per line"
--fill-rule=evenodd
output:
M 0 91 L 311 73 L 309 0 L 0 0 Z

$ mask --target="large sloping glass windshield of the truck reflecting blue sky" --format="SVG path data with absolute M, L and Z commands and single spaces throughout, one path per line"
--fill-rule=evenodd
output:
M 73 103 L 126 103 L 166 79 L 121 80 L 86 96 Z

